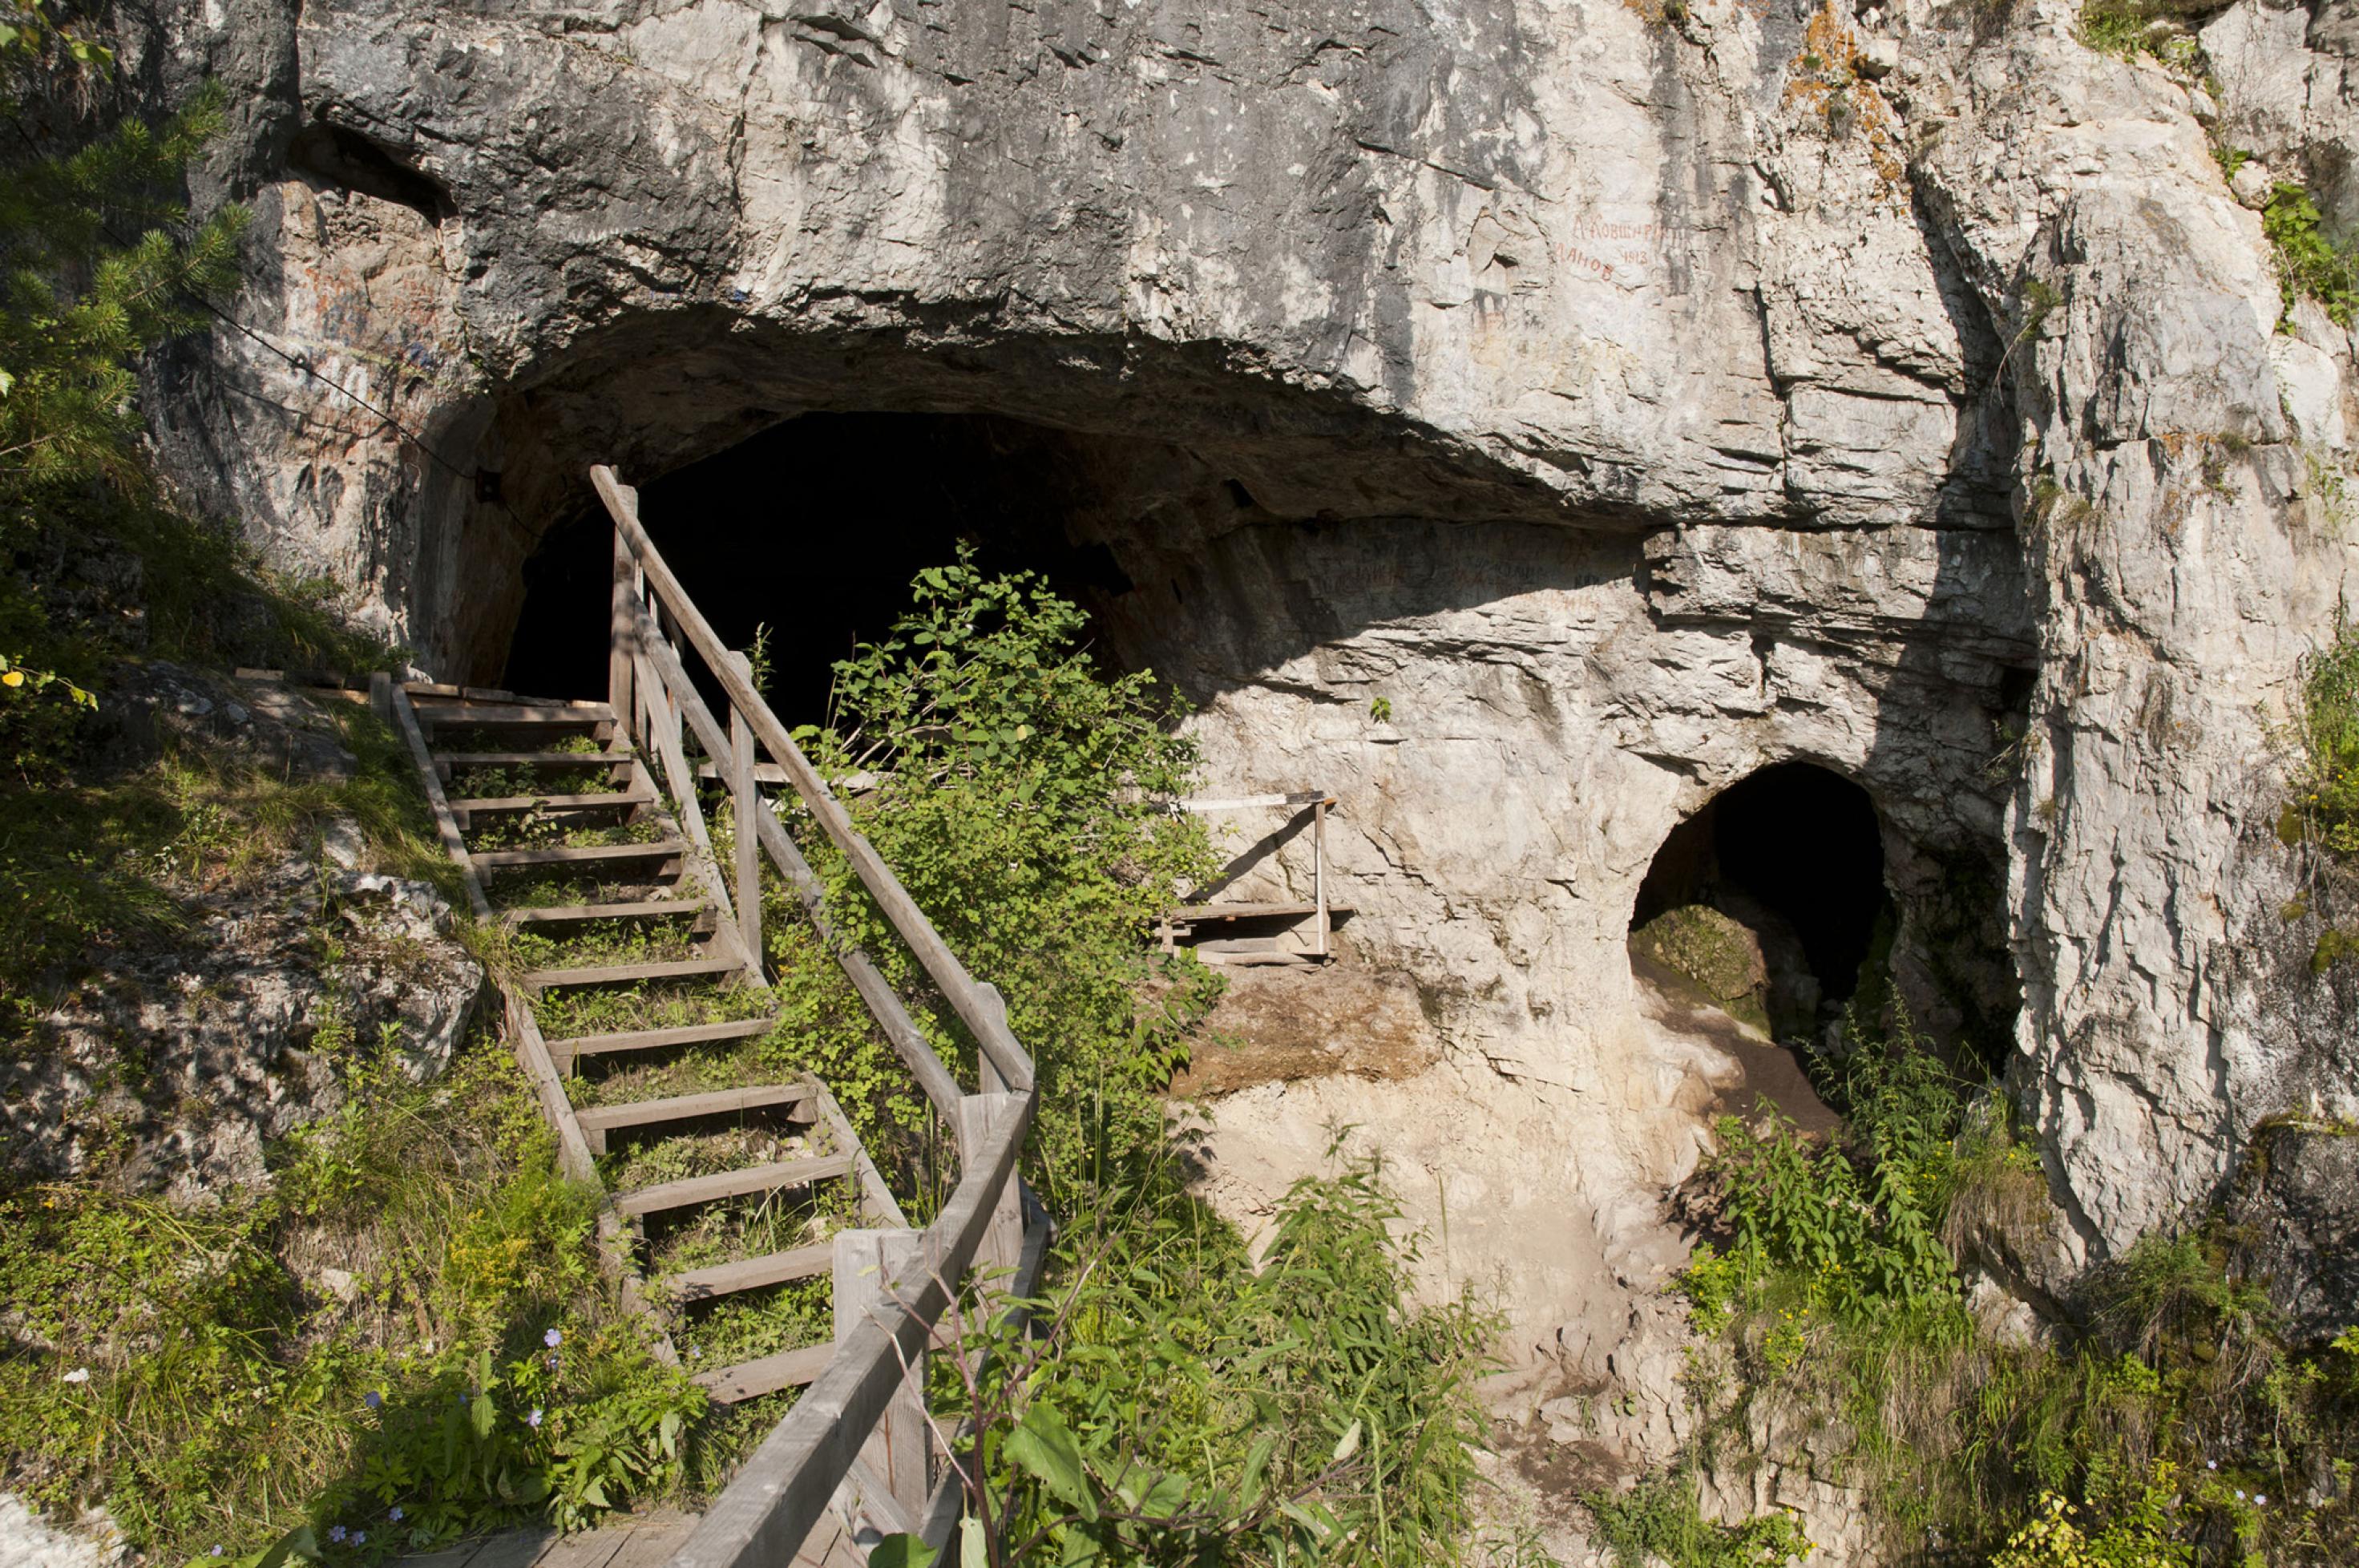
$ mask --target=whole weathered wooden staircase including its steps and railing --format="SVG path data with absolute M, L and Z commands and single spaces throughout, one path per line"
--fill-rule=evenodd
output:
M 958 1530 L 962 1476 L 977 1474 L 977 1434 L 955 1410 L 927 1410 L 925 1358 L 951 1311 L 1017 1311 L 991 1304 L 1038 1280 L 1050 1219 L 1017 1174 L 1038 1113 L 1033 1061 L 1000 993 L 958 962 L 769 710 L 745 655 L 698 613 L 642 528 L 637 493 L 604 467 L 590 481 L 616 526 L 606 700 L 377 674 L 370 703 L 408 738 L 474 917 L 505 927 L 517 960 L 500 974 L 507 1035 L 561 1170 L 597 1191 L 623 1302 L 646 1313 L 658 1356 L 691 1363 L 715 1401 L 786 1403 L 800 1389 L 672 1568 L 861 1568 L 894 1533 L 939 1554 Z M 828 920 L 819 877 L 764 797 L 781 785 L 925 976 L 939 1026 L 972 1047 L 972 1089 Z M 708 790 L 731 828 L 727 865 Z M 764 1045 L 783 1045 L 764 988 L 764 889 L 809 922 L 929 1106 L 937 1146 L 955 1153 L 955 1184 L 934 1193 L 922 1231 L 826 1085 L 760 1066 Z M 701 1066 L 670 1073 L 679 1063 Z M 743 1158 L 703 1158 L 729 1137 Z M 800 1205 L 802 1233 L 738 1221 L 776 1219 L 786 1203 Z M 668 1250 L 715 1217 L 724 1224 L 703 1240 L 743 1245 Z M 701 1323 L 745 1292 L 819 1278 L 833 1339 L 760 1353 L 731 1342 L 712 1356 L 724 1365 L 701 1365 Z

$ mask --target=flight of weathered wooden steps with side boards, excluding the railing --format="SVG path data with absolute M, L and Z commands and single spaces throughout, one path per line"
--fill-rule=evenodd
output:
M 427 778 L 469 905 L 479 920 L 507 927 L 528 955 L 498 976 L 517 1054 L 557 1127 L 566 1174 L 599 1191 L 609 1261 L 649 1316 L 658 1353 L 677 1361 L 675 1342 L 694 1337 L 696 1313 L 724 1297 L 830 1273 L 830 1226 L 903 1228 L 908 1221 L 826 1087 L 811 1078 L 771 1080 L 755 1056 L 776 1012 L 762 955 L 745 941 L 705 823 L 682 823 L 613 707 L 432 684 L 387 684 L 382 700 Z M 533 750 L 502 750 L 519 738 Z M 630 1021 L 646 1002 L 710 1016 L 656 1028 L 583 1026 L 599 1016 Z M 703 1080 L 727 1082 L 620 1096 L 604 1087 L 635 1066 L 665 1061 L 694 1061 Z M 661 1082 L 663 1073 L 642 1078 Z M 790 1158 L 663 1181 L 623 1174 L 668 1155 L 694 1160 L 724 1129 L 774 1134 Z M 800 1203 L 811 1233 L 790 1247 L 738 1247 L 717 1261 L 644 1273 L 661 1254 L 651 1226 L 731 1203 Z M 833 1349 L 833 1339 L 776 1346 L 694 1377 L 712 1398 L 734 1403 L 807 1384 Z

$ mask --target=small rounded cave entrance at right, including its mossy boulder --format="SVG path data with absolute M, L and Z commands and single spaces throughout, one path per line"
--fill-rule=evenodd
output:
M 1892 929 L 1875 804 L 1809 762 L 1767 766 L 1673 828 L 1630 913 L 1635 960 L 1781 1040 L 1840 1016 Z

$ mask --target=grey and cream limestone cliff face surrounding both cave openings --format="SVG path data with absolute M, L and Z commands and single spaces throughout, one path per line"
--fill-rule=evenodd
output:
M 2213 101 L 2057 0 L 165 5 L 132 78 L 231 78 L 259 222 L 252 335 L 151 406 L 462 677 L 587 462 L 1047 427 L 1217 783 L 1342 797 L 1359 941 L 1491 1108 L 1453 1137 L 1529 1139 L 1477 1207 L 1590 1236 L 1533 1299 L 1694 1158 L 1632 1045 L 1649 858 L 1833 766 L 2102 1257 L 2359 1111 L 2267 743 L 2352 578 L 2352 342 L 2276 330 L 2206 139 L 2359 217 L 2347 9 L 2217 9 Z

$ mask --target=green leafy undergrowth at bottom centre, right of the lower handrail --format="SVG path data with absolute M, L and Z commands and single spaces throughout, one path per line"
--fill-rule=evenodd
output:
M 970 1318 L 948 1379 L 981 1561 L 1465 1556 L 1496 1323 L 1401 1304 L 1397 1219 L 1373 1162 L 1302 1179 L 1255 1271 L 1217 1219 L 1137 1203 L 1066 1252 L 1038 1332 Z

